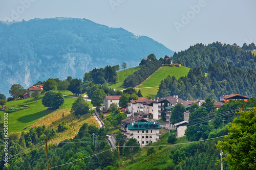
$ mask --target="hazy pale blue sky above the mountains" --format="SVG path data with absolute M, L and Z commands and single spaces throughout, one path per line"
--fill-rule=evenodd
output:
M 145 35 L 173 51 L 256 42 L 256 1 L 0 0 L 0 20 L 86 18 Z

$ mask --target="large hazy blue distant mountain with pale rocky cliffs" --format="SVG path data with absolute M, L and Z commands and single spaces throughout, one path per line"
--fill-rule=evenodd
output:
M 82 78 L 84 72 L 105 65 L 137 66 L 154 53 L 173 51 L 122 28 L 110 28 L 88 19 L 49 18 L 0 22 L 0 93 L 9 96 L 12 84 L 24 88 L 38 80 Z

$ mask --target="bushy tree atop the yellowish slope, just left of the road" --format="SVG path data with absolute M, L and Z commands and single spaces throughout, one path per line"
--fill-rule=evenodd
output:
M 87 114 L 89 111 L 89 104 L 83 100 L 82 96 L 79 96 L 77 100 L 72 104 L 71 112 L 75 115 Z

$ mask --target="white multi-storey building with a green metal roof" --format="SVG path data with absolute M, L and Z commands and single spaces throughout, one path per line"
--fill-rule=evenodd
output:
M 130 122 L 127 125 L 127 138 L 136 138 L 141 147 L 159 140 L 161 126 L 156 122 Z

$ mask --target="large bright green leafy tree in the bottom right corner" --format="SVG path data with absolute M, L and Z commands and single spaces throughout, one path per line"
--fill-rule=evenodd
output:
M 256 168 L 256 108 L 240 110 L 239 118 L 234 118 L 224 141 L 218 141 L 217 148 L 224 152 L 225 161 L 233 169 Z

